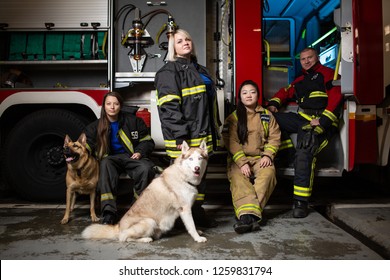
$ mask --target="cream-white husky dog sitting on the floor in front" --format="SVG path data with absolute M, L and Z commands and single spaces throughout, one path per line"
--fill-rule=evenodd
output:
M 207 239 L 199 236 L 195 228 L 191 207 L 207 160 L 205 141 L 199 148 L 190 148 L 183 142 L 181 156 L 150 183 L 118 224 L 93 224 L 82 232 L 82 236 L 86 239 L 151 242 L 171 230 L 180 216 L 192 238 L 196 242 L 206 242 Z

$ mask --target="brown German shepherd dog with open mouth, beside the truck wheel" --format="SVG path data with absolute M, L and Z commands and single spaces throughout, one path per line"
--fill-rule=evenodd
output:
M 82 133 L 76 142 L 65 136 L 64 156 L 66 172 L 66 210 L 61 224 L 69 221 L 75 202 L 76 193 L 89 194 L 92 222 L 99 221 L 95 213 L 96 184 L 99 179 L 99 164 L 86 148 L 87 137 Z

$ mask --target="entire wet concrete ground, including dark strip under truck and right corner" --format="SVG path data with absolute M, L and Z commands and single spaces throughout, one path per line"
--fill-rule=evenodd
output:
M 204 229 L 196 243 L 174 229 L 150 244 L 91 241 L 88 199 L 78 199 L 72 219 L 61 225 L 64 203 L 31 203 L 0 196 L 1 260 L 389 260 L 390 193 L 367 182 L 317 180 L 310 214 L 292 218 L 291 182 L 279 180 L 258 232 L 238 235 L 226 182 L 208 184 L 205 209 L 219 226 Z M 118 201 L 122 214 L 128 198 Z

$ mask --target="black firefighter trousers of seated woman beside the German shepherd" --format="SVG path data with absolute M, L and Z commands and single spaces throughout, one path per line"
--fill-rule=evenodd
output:
M 119 176 L 122 173 L 129 175 L 134 181 L 134 195 L 141 192 L 153 180 L 155 172 L 153 162 L 148 158 L 131 159 L 129 154 L 109 155 L 100 162 L 99 182 L 97 190 L 100 192 L 101 210 L 117 212 L 116 196 L 118 193 Z

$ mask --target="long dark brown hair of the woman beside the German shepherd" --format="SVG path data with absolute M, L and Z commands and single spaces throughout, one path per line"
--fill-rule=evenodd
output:
M 99 160 L 101 160 L 109 152 L 109 131 L 110 131 L 110 121 L 108 120 L 105 104 L 108 96 L 113 96 L 118 99 L 120 107 L 123 106 L 122 96 L 115 91 L 108 92 L 103 97 L 102 110 L 100 112 L 100 119 L 97 127 L 97 139 L 96 139 L 96 153 Z

